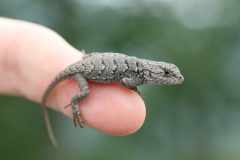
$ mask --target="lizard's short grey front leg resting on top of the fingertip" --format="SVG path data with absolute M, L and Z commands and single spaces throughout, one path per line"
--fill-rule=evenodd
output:
M 134 78 L 123 78 L 121 80 L 121 84 L 135 92 L 138 93 L 138 95 L 143 99 L 143 95 L 142 95 L 142 92 L 140 90 L 139 85 L 142 84 L 141 80 L 140 79 L 134 79 Z

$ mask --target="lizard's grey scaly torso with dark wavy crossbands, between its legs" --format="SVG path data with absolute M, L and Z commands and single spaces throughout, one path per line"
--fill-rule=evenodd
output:
M 137 75 L 139 59 L 119 53 L 92 53 L 79 63 L 79 68 L 87 80 L 119 82 L 123 77 Z

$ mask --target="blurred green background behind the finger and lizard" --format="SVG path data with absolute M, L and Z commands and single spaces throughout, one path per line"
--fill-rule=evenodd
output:
M 0 16 L 47 26 L 78 49 L 176 64 L 180 86 L 143 86 L 147 117 L 126 137 L 75 129 L 39 105 L 0 96 L 0 159 L 239 160 L 239 0 L 0 0 Z M 27 87 L 27 86 L 26 86 Z

